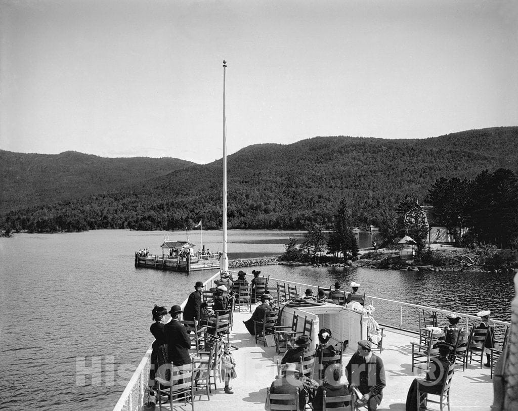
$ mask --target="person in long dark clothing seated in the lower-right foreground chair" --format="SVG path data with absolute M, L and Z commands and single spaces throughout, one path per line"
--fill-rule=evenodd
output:
M 419 408 L 425 406 L 428 394 L 440 394 L 442 390 L 444 378 L 448 375 L 448 368 L 451 364 L 448 357 L 450 356 L 450 350 L 453 349 L 453 345 L 438 343 L 437 347 L 439 348 L 439 356 L 430 358 L 430 371 L 426 374 L 426 378 L 415 378 L 410 385 L 407 394 L 407 411 L 419 411 Z M 417 398 L 418 386 L 421 394 L 419 406 Z

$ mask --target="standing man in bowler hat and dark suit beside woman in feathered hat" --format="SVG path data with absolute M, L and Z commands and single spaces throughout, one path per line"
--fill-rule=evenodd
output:
M 171 320 L 164 326 L 165 341 L 167 342 L 167 359 L 173 365 L 184 365 L 191 363 L 189 349 L 191 339 L 183 324 L 178 321 L 182 309 L 179 305 L 173 305 L 169 314 Z

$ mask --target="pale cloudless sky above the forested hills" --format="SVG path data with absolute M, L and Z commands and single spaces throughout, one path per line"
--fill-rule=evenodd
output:
M 518 125 L 518 2 L 0 0 L 0 149 L 222 156 Z

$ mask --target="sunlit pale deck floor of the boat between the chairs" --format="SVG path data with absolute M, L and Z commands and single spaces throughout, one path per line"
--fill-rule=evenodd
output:
M 252 307 L 253 309 L 254 307 Z M 242 324 L 242 321 L 250 316 L 249 312 L 234 314 L 231 343 L 238 347 L 238 350 L 232 351 L 238 364 L 236 368 L 238 376 L 231 383 L 234 394 L 225 394 L 224 385 L 218 383 L 218 389 L 212 390 L 210 400 L 206 395 L 196 396 L 194 403 L 196 411 L 265 409 L 266 388 L 270 386 L 277 373 L 276 352 L 275 347 L 264 347 L 261 342 L 255 345 L 254 337 Z M 413 378 L 424 376 L 424 373 L 417 369 L 414 369 L 414 373 L 412 373 L 410 366 L 410 342 L 418 341 L 418 336 L 392 329 L 385 329 L 385 335 L 383 353 L 379 354 L 379 350 L 374 351 L 383 359 L 387 381 L 383 390 L 383 401 L 378 409 L 404 411 L 410 383 Z M 355 345 L 353 347 L 355 348 Z M 344 354 L 344 365 L 347 364 L 351 355 L 352 351 Z M 451 409 L 453 411 L 487 411 L 490 408 L 493 402 L 490 370 L 487 368 L 481 370 L 479 367 L 468 365 L 466 371 L 463 372 L 462 366 L 457 366 L 451 391 Z M 435 398 L 438 397 L 434 396 Z M 169 408 L 168 404 L 166 408 Z M 191 409 L 190 405 L 183 408 Z M 438 409 L 438 407 L 432 409 Z

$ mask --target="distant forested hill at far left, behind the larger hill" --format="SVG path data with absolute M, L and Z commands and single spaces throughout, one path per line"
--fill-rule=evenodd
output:
M 24 154 L 0 150 L 0 210 L 120 191 L 193 164 L 177 158 L 105 158 L 74 151 Z

